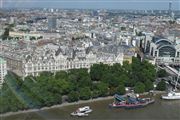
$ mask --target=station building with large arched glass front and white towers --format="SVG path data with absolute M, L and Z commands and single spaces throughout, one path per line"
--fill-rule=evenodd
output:
M 153 39 L 149 55 L 155 58 L 156 64 L 180 65 L 180 44 L 168 39 Z

